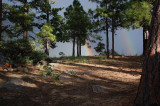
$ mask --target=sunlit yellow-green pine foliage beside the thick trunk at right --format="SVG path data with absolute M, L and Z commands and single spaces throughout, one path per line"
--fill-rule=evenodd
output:
M 148 1 L 131 0 L 126 5 L 124 17 L 126 17 L 125 27 L 140 28 L 149 26 L 151 22 L 152 4 Z

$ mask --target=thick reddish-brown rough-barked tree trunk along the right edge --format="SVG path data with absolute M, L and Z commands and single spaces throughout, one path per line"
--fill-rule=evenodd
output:
M 134 106 L 160 106 L 160 0 L 154 3 L 147 51 Z

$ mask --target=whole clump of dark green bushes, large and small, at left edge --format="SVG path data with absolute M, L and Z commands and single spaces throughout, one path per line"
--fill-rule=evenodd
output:
M 48 56 L 35 50 L 36 46 L 27 39 L 9 40 L 0 42 L 0 52 L 13 64 L 26 65 L 35 63 Z

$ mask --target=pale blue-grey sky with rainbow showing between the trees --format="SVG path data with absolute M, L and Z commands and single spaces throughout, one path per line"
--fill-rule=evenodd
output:
M 53 5 L 53 7 L 68 7 L 73 3 L 73 0 L 55 0 L 56 4 Z M 82 4 L 83 8 L 88 11 L 89 8 L 95 9 L 96 4 L 89 2 L 89 0 L 79 0 Z M 6 2 L 6 1 L 5 1 Z M 60 13 L 60 15 L 63 16 L 63 12 L 65 9 L 63 9 Z M 121 29 L 116 31 L 115 35 L 115 51 L 117 51 L 119 54 L 123 55 L 141 55 L 143 52 L 143 36 L 142 36 L 142 29 L 137 30 L 125 30 Z M 105 39 L 105 33 L 102 32 L 100 35 L 103 37 L 103 43 L 106 43 Z M 109 33 L 109 48 L 112 47 L 112 36 L 111 32 Z M 59 56 L 59 52 L 64 52 L 66 56 L 72 55 L 72 42 L 70 43 L 57 43 L 57 48 L 54 50 L 50 50 L 50 56 L 51 57 L 57 57 Z M 94 51 L 94 47 L 96 44 L 91 44 L 92 46 L 92 52 L 94 55 L 97 55 L 97 53 Z M 87 55 L 87 51 L 85 47 L 82 47 L 82 55 Z

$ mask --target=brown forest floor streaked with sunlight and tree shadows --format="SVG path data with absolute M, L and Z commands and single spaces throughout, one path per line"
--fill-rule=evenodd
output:
M 28 72 L 0 69 L 0 106 L 132 105 L 143 58 L 86 58 L 87 63 L 69 63 L 64 59 L 51 67 L 64 76 L 72 72 L 67 77 L 60 76 L 58 81 L 42 77 L 40 66 L 28 66 Z

